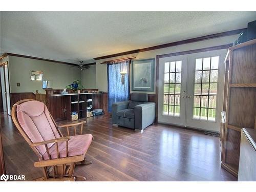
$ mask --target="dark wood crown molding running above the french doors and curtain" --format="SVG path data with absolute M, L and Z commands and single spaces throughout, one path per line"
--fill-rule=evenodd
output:
M 105 56 L 101 56 L 101 57 L 96 57 L 94 59 L 95 60 L 100 60 L 100 59 L 117 57 L 117 56 L 122 56 L 122 55 L 129 55 L 129 54 L 139 53 L 139 52 L 144 52 L 144 51 L 151 51 L 151 50 L 155 50 L 155 49 L 163 49 L 163 48 L 166 48 L 166 47 L 179 46 L 179 45 L 183 45 L 183 44 L 189 44 L 191 42 L 208 40 L 208 39 L 212 39 L 212 38 L 224 37 L 224 36 L 229 36 L 229 35 L 236 35 L 236 34 L 241 33 L 241 31 L 243 31 L 243 30 L 245 30 L 245 29 L 237 29 L 237 30 L 226 31 L 226 32 L 222 32 L 222 33 L 205 35 L 205 36 L 196 37 L 196 38 L 190 38 L 190 39 L 186 39 L 186 40 L 169 42 L 168 44 L 162 44 L 162 45 L 147 47 L 147 48 L 143 48 L 143 49 L 136 49 L 136 50 L 132 50 L 132 51 L 125 51 L 125 52 L 122 52 L 122 53 L 116 53 L 116 54 L 112 54 L 112 55 L 105 55 Z

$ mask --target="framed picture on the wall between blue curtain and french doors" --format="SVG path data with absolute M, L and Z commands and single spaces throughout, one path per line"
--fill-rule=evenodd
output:
M 132 61 L 132 91 L 154 91 L 155 58 Z

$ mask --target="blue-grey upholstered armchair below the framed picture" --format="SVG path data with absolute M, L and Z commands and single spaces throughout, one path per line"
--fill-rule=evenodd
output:
M 143 132 L 155 121 L 156 103 L 147 102 L 147 93 L 132 93 L 130 101 L 112 103 L 112 123 Z

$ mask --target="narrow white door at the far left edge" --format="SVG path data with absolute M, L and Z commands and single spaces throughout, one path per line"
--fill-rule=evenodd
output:
M 3 112 L 7 112 L 8 115 L 11 115 L 8 61 L 6 61 L 0 66 L 0 77 Z

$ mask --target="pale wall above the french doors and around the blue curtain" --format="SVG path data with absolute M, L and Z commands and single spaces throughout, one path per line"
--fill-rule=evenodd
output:
M 102 61 L 118 59 L 118 58 L 123 58 L 123 57 L 130 57 L 130 56 L 135 56 L 136 60 L 147 59 L 147 58 L 155 58 L 156 59 L 156 55 L 229 44 L 229 43 L 232 43 L 234 41 L 234 39 L 237 38 L 237 36 L 238 35 L 232 35 L 232 36 L 226 36 L 226 37 L 221 37 L 221 38 L 214 38 L 214 39 L 210 39 L 210 40 L 193 42 L 190 44 L 183 44 L 180 46 L 168 47 L 168 48 L 164 48 L 164 49 L 157 49 L 157 50 L 152 50 L 152 51 L 146 51 L 146 52 L 140 52 L 140 53 L 135 53 L 135 54 L 130 54 L 130 55 L 123 55 L 123 56 L 119 56 L 119 57 L 112 57 L 112 58 L 97 60 L 96 61 L 96 77 L 97 77 L 96 78 L 96 86 L 99 89 L 99 91 L 108 92 L 108 76 L 107 76 L 107 71 L 106 71 L 106 64 L 101 65 L 100 63 Z M 156 62 L 155 62 L 155 64 L 156 64 Z M 155 74 L 155 79 L 156 79 L 156 74 Z M 130 78 L 130 80 L 131 80 L 131 78 Z M 130 84 L 132 84 L 132 83 L 130 83 Z M 156 82 L 155 82 L 155 84 L 156 84 Z M 155 91 L 147 92 L 147 93 L 155 94 Z

